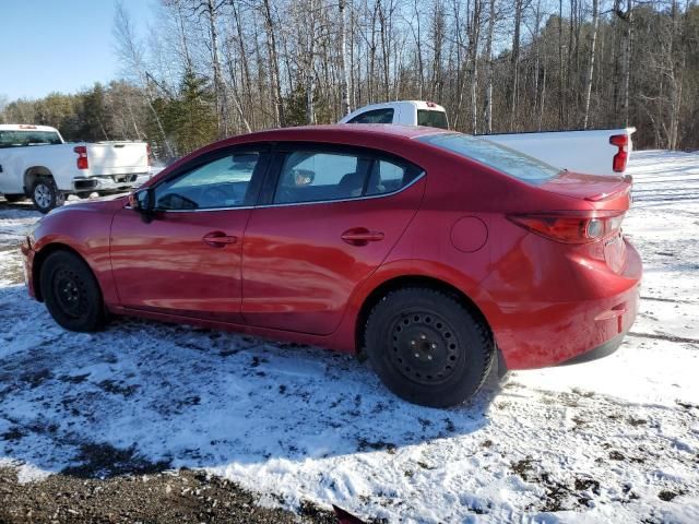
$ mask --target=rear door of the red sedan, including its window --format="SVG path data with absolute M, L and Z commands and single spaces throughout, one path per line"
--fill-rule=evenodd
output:
M 332 333 L 415 215 L 423 175 L 370 150 L 280 147 L 242 242 L 246 322 Z

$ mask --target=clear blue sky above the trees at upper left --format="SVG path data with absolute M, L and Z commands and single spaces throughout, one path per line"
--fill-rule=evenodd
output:
M 140 33 L 155 0 L 125 0 Z M 74 93 L 118 76 L 114 0 L 0 0 L 0 96 Z

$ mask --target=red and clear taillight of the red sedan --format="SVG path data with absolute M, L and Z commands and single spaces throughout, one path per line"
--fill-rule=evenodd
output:
M 508 218 L 542 237 L 564 243 L 591 243 L 618 233 L 624 212 L 561 212 L 508 215 Z

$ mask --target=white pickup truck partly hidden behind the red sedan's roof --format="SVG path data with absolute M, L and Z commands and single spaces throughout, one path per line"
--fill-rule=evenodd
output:
M 447 111 L 433 102 L 401 100 L 365 106 L 339 123 L 398 123 L 449 128 Z M 571 171 L 616 175 L 626 170 L 636 128 L 483 134 L 482 139 L 518 150 Z

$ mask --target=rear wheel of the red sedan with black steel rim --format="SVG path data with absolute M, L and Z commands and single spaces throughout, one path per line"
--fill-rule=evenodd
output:
M 483 321 L 450 295 L 422 287 L 386 295 L 369 313 L 365 343 L 389 390 L 430 407 L 471 398 L 496 354 Z

